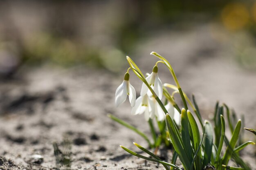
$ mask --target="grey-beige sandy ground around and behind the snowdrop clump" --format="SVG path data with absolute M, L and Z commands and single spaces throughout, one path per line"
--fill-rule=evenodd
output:
M 151 72 L 157 60 L 149 53 L 156 51 L 171 62 L 183 90 L 196 95 L 204 118 L 213 113 L 216 100 L 220 100 L 239 115 L 245 114 L 246 127 L 256 128 L 256 73 L 240 68 L 203 28 L 167 35 L 149 38 L 135 49 L 134 56 L 130 55 L 143 73 Z M 70 169 L 163 170 L 162 166 L 133 157 L 119 147 L 139 151 L 132 142 L 147 144 L 110 120 L 108 113 L 149 134 L 144 117 L 130 115 L 128 102 L 115 108 L 115 90 L 123 73 L 117 76 L 94 68 L 63 70 L 43 66 L 25 68 L 15 78 L 1 82 L 0 168 L 58 168 L 53 148 L 56 142 L 63 153 L 70 153 Z M 159 76 L 162 82 L 173 83 L 164 66 L 159 68 Z M 141 82 L 131 75 L 131 83 L 139 94 Z M 255 140 L 249 132 L 244 135 L 245 139 Z M 38 162 L 35 154 L 43 157 L 40 166 L 33 165 Z M 159 154 L 168 155 L 166 161 L 170 161 L 170 153 Z M 255 147 L 245 150 L 243 157 L 255 170 Z M 69 169 L 60 169 L 65 168 Z

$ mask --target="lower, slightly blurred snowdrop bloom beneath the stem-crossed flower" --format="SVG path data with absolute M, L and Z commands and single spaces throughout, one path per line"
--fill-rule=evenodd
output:
M 136 99 L 135 106 L 132 108 L 132 115 L 140 115 L 144 113 L 146 121 L 149 118 L 154 118 L 153 115 L 153 101 L 148 97 L 148 95 L 140 96 Z

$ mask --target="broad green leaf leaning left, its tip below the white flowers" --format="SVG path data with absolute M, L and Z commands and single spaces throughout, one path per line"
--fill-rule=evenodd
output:
M 188 170 L 191 167 L 191 162 L 189 161 L 186 152 L 184 150 L 183 141 L 180 137 L 180 134 L 175 127 L 173 120 L 171 119 L 169 114 L 166 114 L 166 125 L 168 128 L 168 132 L 173 144 L 173 148 L 177 152 L 182 165 L 184 166 L 185 170 Z

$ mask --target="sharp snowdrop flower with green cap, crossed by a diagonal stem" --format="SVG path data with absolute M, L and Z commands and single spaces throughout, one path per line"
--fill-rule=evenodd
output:
M 153 88 L 153 90 L 155 91 L 155 93 L 159 97 L 159 99 L 162 99 L 163 84 L 162 84 L 161 80 L 159 79 L 157 72 L 158 72 L 158 68 L 157 68 L 157 66 L 154 66 L 153 72 L 148 77 L 146 77 L 146 80 L 147 80 L 148 84 Z M 146 84 L 143 83 L 142 87 L 141 87 L 140 95 L 144 96 L 146 94 L 148 94 L 148 96 L 152 96 L 152 93 L 150 92 L 150 90 L 148 89 Z

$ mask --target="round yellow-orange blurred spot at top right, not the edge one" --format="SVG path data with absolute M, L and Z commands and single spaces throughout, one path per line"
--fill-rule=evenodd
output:
M 224 26 L 230 31 L 243 29 L 249 22 L 249 11 L 242 3 L 228 4 L 221 13 Z

